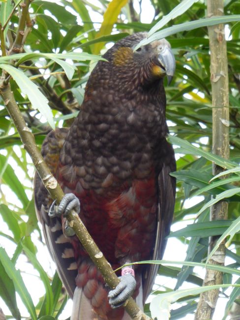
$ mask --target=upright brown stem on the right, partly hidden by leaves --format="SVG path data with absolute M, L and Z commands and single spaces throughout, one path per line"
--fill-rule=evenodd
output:
M 223 0 L 207 0 L 208 17 L 224 14 Z M 229 159 L 229 92 L 228 61 L 223 24 L 209 27 L 210 39 L 210 74 L 212 90 L 212 152 Z M 217 174 L 222 168 L 213 164 L 212 172 Z M 210 219 L 223 220 L 228 217 L 228 204 L 220 201 L 211 207 Z M 216 237 L 210 238 L 209 252 L 216 243 Z M 225 243 L 222 243 L 211 257 L 210 264 L 223 265 L 225 260 Z M 204 286 L 222 283 L 222 273 L 206 270 Z M 200 295 L 195 320 L 211 319 L 218 299 L 218 290 L 211 290 Z

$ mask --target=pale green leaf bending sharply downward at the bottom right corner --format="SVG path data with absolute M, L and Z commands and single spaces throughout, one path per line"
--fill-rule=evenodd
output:
M 169 320 L 171 304 L 176 302 L 177 300 L 189 295 L 197 295 L 209 290 L 229 287 L 240 287 L 240 285 L 227 284 L 205 286 L 201 288 L 181 289 L 172 292 L 158 294 L 156 297 L 152 299 L 150 303 L 151 317 L 152 319 L 156 318 L 157 320 Z

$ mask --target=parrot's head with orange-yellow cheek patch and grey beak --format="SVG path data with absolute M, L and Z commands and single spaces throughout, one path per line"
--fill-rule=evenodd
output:
M 175 58 L 169 42 L 155 40 L 134 51 L 136 45 L 147 37 L 147 32 L 129 35 L 110 48 L 103 56 L 108 62 L 99 62 L 95 72 L 110 87 L 127 90 L 129 86 L 150 87 L 167 76 L 171 81 L 175 71 Z

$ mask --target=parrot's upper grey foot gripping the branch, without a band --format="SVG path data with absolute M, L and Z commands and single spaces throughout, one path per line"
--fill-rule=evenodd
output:
M 61 216 L 66 217 L 71 210 L 75 210 L 79 214 L 80 201 L 75 194 L 67 193 L 63 196 L 59 205 L 56 205 L 56 200 L 53 201 L 48 215 L 50 218 Z M 73 229 L 69 226 L 68 221 L 66 221 L 64 233 L 69 237 L 75 234 Z

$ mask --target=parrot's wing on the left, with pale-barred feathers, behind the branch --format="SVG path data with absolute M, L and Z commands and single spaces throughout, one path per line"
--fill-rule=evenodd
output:
M 56 173 L 60 150 L 67 134 L 67 128 L 60 128 L 56 131 L 51 131 L 43 142 L 41 153 L 53 174 Z M 37 173 L 34 176 L 34 202 L 38 221 L 42 224 L 46 245 L 57 265 L 60 279 L 72 298 L 77 276 L 73 247 L 63 235 L 61 220 L 59 218 L 50 219 L 48 216 L 52 199 Z

